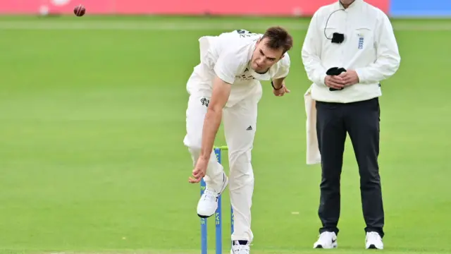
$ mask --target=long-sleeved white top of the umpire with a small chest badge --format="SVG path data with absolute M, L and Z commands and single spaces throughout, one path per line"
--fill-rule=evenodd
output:
M 334 32 L 344 34 L 344 42 L 335 44 L 326 38 L 327 35 L 331 39 Z M 354 1 L 346 9 L 337 1 L 319 8 L 311 18 L 302 47 L 302 61 L 309 80 L 314 83 L 311 85 L 313 99 L 347 103 L 381 96 L 379 83 L 397 71 L 400 54 L 392 25 L 383 11 L 363 0 Z M 324 79 L 332 67 L 357 71 L 359 83 L 329 91 Z

